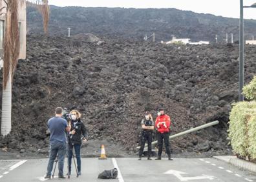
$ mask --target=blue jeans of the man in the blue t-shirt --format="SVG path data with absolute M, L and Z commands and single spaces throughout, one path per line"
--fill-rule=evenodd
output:
M 47 167 L 47 176 L 51 176 L 52 168 L 54 165 L 54 160 L 58 154 L 58 168 L 59 168 L 59 176 L 63 176 L 63 168 L 64 168 L 64 159 L 65 154 L 67 152 L 67 143 L 62 143 L 59 141 L 53 141 L 50 143 L 50 157 L 48 161 Z

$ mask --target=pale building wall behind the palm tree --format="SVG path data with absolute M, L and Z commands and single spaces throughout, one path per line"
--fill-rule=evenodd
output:
M 6 6 L 5 2 L 3 0 L 0 0 L 2 3 L 2 6 Z M 5 13 L 6 10 L 4 9 L 1 13 Z M 0 20 L 5 21 L 5 14 L 0 15 Z M 26 3 L 23 3 L 23 5 L 20 4 L 19 6 L 19 24 L 21 25 L 21 50 L 19 53 L 19 59 L 26 59 L 26 27 L 27 27 L 27 17 L 26 17 Z M 0 54 L 2 54 L 3 49 L 0 49 Z

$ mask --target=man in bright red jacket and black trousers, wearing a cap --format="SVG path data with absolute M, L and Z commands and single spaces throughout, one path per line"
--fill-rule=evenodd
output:
M 158 109 L 157 115 L 158 117 L 156 117 L 155 128 L 157 129 L 158 157 L 156 158 L 156 160 L 161 160 L 163 140 L 168 159 L 173 160 L 171 159 L 171 151 L 169 148 L 171 119 L 167 114 L 164 114 L 164 108 Z

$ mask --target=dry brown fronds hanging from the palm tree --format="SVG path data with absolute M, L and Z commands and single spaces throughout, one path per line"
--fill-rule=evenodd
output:
M 26 0 L 4 0 L 6 2 L 6 26 L 4 39 L 4 53 L 3 53 L 3 88 L 6 88 L 10 76 L 14 77 L 17 61 L 19 59 L 19 22 L 18 22 L 18 8 L 23 5 Z M 2 3 L 2 1 L 0 0 Z M 48 29 L 49 7 L 48 0 L 30 0 L 37 6 L 43 15 L 43 26 L 45 32 Z M 0 7 L 3 5 L 0 4 Z M 1 9 L 1 8 L 0 8 Z M 1 13 L 1 12 L 0 12 Z

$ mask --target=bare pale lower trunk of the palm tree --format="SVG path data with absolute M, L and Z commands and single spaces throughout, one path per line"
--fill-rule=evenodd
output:
M 10 74 L 6 89 L 3 89 L 1 134 L 6 136 L 12 128 L 12 76 Z

